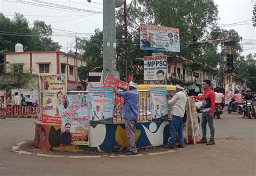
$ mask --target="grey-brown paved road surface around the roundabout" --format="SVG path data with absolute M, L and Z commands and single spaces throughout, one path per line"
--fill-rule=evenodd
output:
M 0 175 L 256 175 L 256 119 L 235 113 L 214 119 L 216 145 L 116 158 L 48 158 L 12 152 L 13 145 L 33 139 L 34 121 L 0 120 Z M 209 131 L 207 127 L 207 137 Z

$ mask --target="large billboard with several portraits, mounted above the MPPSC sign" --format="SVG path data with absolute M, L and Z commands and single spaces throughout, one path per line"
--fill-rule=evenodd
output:
M 140 49 L 180 52 L 179 29 L 140 24 Z

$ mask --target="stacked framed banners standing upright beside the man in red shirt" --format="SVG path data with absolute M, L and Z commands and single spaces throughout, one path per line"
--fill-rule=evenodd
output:
M 197 118 L 197 108 L 192 98 L 187 99 L 187 143 L 196 145 L 201 140 L 200 128 Z

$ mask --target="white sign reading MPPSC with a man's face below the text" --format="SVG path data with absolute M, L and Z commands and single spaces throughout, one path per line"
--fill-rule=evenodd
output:
M 145 56 L 144 60 L 144 80 L 165 80 L 167 56 Z

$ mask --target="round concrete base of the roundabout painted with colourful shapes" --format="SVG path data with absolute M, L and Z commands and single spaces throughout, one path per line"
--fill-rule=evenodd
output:
M 170 121 L 137 123 L 138 148 L 160 146 L 170 137 Z M 35 146 L 55 151 L 121 151 L 129 146 L 124 124 L 91 124 L 89 146 L 60 146 L 60 124 L 35 122 Z

